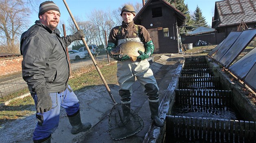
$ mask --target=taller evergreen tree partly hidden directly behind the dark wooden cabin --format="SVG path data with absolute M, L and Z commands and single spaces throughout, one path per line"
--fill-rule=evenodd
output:
M 185 35 L 188 31 L 191 31 L 194 27 L 194 21 L 191 19 L 189 6 L 184 3 L 184 0 L 166 0 L 172 6 L 176 7 L 181 13 L 186 16 L 186 21 L 183 23 L 184 27 L 180 28 L 180 35 Z

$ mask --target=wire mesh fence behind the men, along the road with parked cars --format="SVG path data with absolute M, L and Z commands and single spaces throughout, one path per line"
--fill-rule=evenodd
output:
M 108 63 L 105 49 L 98 49 L 96 47 L 93 49 L 91 49 L 91 53 L 96 63 Z M 78 50 L 69 50 L 71 76 L 76 70 L 94 66 L 88 51 Z M 22 92 L 22 90 L 27 90 L 28 92 L 28 86 L 22 78 L 22 55 L 8 55 L 4 53 L 0 53 L 0 55 L 0 102 L 3 102 L 7 96 L 22 95 L 26 92 Z M 110 60 L 113 61 L 113 59 Z

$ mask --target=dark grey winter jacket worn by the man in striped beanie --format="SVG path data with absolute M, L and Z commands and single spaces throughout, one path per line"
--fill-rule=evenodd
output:
M 20 50 L 23 55 L 22 77 L 30 93 L 46 86 L 48 93 L 56 93 L 67 87 L 69 65 L 65 47 L 71 44 L 69 36 L 59 36 L 58 29 L 51 30 L 35 21 L 21 36 Z

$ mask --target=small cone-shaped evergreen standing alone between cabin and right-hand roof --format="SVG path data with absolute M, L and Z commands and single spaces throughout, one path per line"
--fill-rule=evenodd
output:
M 206 19 L 198 6 L 196 6 L 196 9 L 194 11 L 193 21 L 195 23 L 195 28 L 198 28 L 200 26 L 207 27 Z

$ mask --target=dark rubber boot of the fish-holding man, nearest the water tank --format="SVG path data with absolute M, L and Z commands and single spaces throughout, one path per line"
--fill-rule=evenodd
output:
M 159 102 L 149 102 L 151 118 L 154 120 L 156 126 L 164 126 L 164 122 L 158 116 Z

